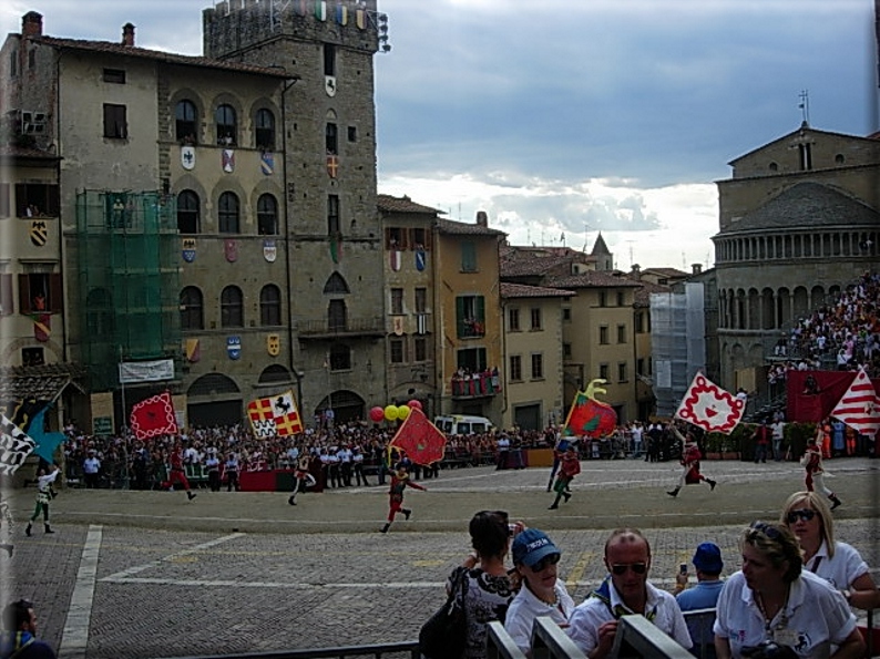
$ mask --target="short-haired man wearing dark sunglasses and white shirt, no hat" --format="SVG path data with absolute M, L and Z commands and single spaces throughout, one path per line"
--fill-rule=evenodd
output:
M 618 528 L 605 542 L 605 567 L 611 573 L 602 585 L 572 612 L 566 632 L 590 659 L 611 652 L 621 616 L 641 615 L 683 648 L 693 645 L 675 598 L 652 586 L 651 545 L 635 528 Z

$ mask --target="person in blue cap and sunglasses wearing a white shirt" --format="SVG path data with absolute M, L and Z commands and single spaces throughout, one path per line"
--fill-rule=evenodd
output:
M 561 627 L 567 627 L 574 600 L 556 575 L 562 552 L 543 531 L 526 528 L 518 534 L 513 538 L 512 552 L 522 587 L 508 609 L 504 629 L 529 656 L 534 619 L 550 616 Z

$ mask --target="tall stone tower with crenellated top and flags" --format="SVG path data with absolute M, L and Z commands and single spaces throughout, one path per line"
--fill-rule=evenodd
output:
M 203 12 L 205 56 L 290 75 L 279 126 L 290 322 L 303 387 L 337 420 L 386 399 L 375 377 L 386 320 L 372 59 L 390 49 L 387 30 L 376 0 L 232 0 Z

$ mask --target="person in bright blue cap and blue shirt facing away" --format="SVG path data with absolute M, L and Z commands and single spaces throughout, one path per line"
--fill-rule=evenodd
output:
M 679 572 L 675 575 L 675 599 L 678 607 L 683 611 L 714 609 L 724 587 L 724 581 L 720 578 L 724 569 L 722 550 L 715 543 L 702 543 L 694 553 L 692 563 L 697 572 L 696 586 L 687 588 L 689 577 L 687 572 Z M 685 566 L 685 564 L 682 565 Z M 690 652 L 695 657 L 714 659 L 716 655 L 712 624 L 715 620 L 715 612 L 706 616 L 687 616 L 685 620 L 690 638 L 694 640 Z

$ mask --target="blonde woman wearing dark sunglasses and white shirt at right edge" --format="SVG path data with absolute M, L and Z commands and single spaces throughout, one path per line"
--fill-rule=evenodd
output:
M 855 547 L 835 540 L 833 517 L 822 496 L 796 492 L 786 501 L 779 522 L 800 542 L 805 568 L 840 590 L 851 606 L 880 607 L 880 591 L 868 564 Z

